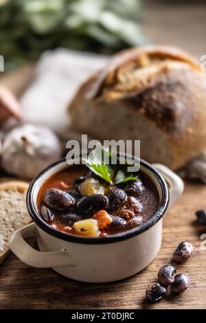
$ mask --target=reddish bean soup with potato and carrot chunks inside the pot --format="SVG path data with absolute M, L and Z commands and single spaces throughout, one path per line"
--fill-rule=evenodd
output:
M 38 212 L 49 225 L 68 234 L 105 237 L 130 230 L 148 221 L 159 205 L 151 179 L 143 172 L 135 175 L 114 184 L 85 165 L 68 166 L 43 183 Z

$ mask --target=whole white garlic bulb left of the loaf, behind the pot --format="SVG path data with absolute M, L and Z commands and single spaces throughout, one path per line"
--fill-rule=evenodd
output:
M 5 136 L 2 166 L 10 174 L 32 179 L 61 155 L 58 137 L 45 126 L 25 124 Z

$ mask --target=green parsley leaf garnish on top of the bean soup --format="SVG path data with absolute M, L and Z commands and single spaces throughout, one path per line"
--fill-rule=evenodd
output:
M 115 170 L 113 165 L 105 164 L 104 158 L 108 161 L 111 160 L 111 151 L 104 148 L 104 146 L 98 145 L 91 153 L 85 161 L 86 166 L 95 173 L 95 175 L 100 176 L 107 183 L 126 183 L 127 181 L 137 181 L 137 177 L 134 175 L 126 176 L 126 173 L 122 170 L 118 170 L 115 175 Z

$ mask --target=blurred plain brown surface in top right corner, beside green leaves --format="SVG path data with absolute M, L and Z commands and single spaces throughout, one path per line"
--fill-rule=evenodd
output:
M 190 54 L 205 54 L 205 0 L 144 0 L 142 31 L 154 43 L 174 45 Z

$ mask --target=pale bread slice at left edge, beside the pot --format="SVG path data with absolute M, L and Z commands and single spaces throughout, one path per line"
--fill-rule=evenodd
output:
M 28 187 L 25 181 L 0 183 L 0 265 L 9 253 L 10 235 L 31 222 L 25 202 Z

